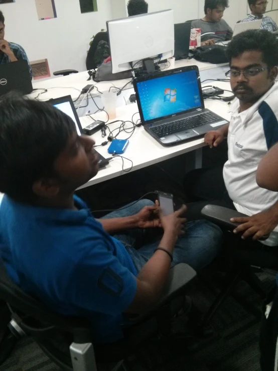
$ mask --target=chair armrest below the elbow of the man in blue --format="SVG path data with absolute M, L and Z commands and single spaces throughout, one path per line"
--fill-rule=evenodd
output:
M 126 316 L 130 324 L 137 324 L 150 317 L 162 307 L 164 304 L 170 302 L 174 297 L 179 296 L 187 285 L 197 276 L 197 273 L 188 264 L 180 263 L 170 269 L 168 281 L 163 290 L 160 300 L 147 312 L 135 316 Z

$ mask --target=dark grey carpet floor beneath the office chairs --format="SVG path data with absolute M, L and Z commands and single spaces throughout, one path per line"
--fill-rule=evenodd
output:
M 275 273 L 258 273 L 265 287 L 274 283 Z M 214 282 L 214 281 L 213 281 Z M 198 281 L 191 295 L 197 308 L 205 313 L 219 289 Z M 260 308 L 261 300 L 247 284 L 239 283 L 236 292 L 252 306 Z M 183 327 L 182 318 L 176 327 Z M 179 322 L 180 321 L 180 322 Z M 128 361 L 132 371 L 259 371 L 259 321 L 233 298 L 228 297 L 211 321 L 214 335 L 195 339 L 197 349 L 187 350 L 184 340 L 171 343 L 150 342 Z M 0 371 L 55 371 L 57 367 L 31 338 L 20 340 Z

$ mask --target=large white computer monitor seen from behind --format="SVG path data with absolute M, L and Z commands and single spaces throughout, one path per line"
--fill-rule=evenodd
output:
M 112 72 L 140 67 L 140 61 L 174 55 L 174 12 L 143 14 L 106 22 L 109 35 Z M 141 64 L 142 65 L 142 64 Z

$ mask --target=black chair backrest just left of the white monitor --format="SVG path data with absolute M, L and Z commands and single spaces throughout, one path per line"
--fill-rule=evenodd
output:
M 99 32 L 95 35 L 86 58 L 87 70 L 96 69 L 103 60 L 110 55 L 109 39 L 107 32 Z

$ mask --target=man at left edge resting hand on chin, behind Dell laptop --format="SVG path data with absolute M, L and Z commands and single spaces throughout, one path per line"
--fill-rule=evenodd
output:
M 5 40 L 5 18 L 0 11 L 0 64 L 16 62 L 22 59 L 27 60 L 30 76 L 32 78 L 32 68 L 23 47 Z

